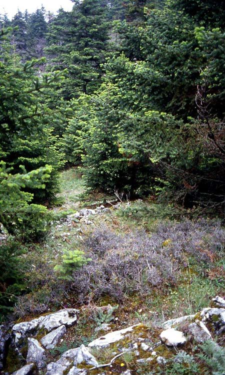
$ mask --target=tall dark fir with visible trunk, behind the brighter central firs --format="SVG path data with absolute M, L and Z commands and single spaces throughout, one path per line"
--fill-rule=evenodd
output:
M 60 10 L 49 25 L 49 58 L 53 68 L 67 68 L 68 76 L 62 95 L 72 98 L 92 93 L 99 86 L 105 60 L 108 22 L 105 1 L 74 1 L 71 12 Z

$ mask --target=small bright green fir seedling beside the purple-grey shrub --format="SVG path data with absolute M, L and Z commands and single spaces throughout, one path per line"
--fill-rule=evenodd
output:
M 72 280 L 72 273 L 82 265 L 90 261 L 90 258 L 84 257 L 84 252 L 80 250 L 64 250 L 62 263 L 57 264 L 54 270 L 58 272 L 58 278 L 63 280 Z

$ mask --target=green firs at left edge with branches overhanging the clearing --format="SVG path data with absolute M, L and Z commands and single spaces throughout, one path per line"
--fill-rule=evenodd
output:
M 6 44 L 7 45 L 7 44 Z M 62 154 L 52 124 L 63 120 L 63 108 L 47 105 L 51 87 L 62 75 L 35 75 L 42 60 L 14 67 L 4 51 L 0 62 L 0 223 L 23 240 L 37 239 L 47 231 L 49 215 L 35 204 L 54 198 Z

